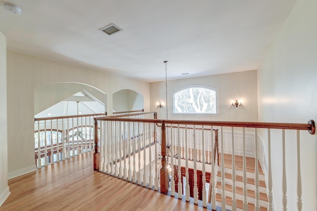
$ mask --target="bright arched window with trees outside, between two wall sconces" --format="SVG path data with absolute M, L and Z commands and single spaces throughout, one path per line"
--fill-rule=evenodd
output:
M 173 113 L 218 114 L 218 89 L 191 85 L 173 93 Z

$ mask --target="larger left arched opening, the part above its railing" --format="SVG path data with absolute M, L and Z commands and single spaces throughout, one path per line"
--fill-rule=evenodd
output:
M 54 83 L 34 90 L 35 118 L 105 111 L 106 93 L 87 84 Z

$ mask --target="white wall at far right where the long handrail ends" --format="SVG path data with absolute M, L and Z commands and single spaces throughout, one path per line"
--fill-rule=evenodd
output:
M 258 70 L 259 121 L 317 120 L 317 1 L 298 0 Z M 296 209 L 295 132 L 286 133 L 287 204 Z M 316 135 L 301 133 L 303 211 L 316 207 Z M 267 152 L 266 135 L 262 133 Z M 276 210 L 281 210 L 281 139 L 272 136 L 272 171 Z

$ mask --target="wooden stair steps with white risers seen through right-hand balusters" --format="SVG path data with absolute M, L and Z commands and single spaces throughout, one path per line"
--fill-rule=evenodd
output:
M 219 160 L 221 159 L 221 154 L 219 154 Z M 247 164 L 247 200 L 249 211 L 255 210 L 255 158 L 246 157 Z M 261 211 L 267 210 L 267 196 L 266 196 L 266 185 L 264 173 L 259 164 L 259 191 L 260 191 L 260 206 Z M 236 165 L 236 199 L 237 199 L 237 211 L 243 210 L 243 157 L 235 156 Z M 224 154 L 224 167 L 225 167 L 225 196 L 227 210 L 232 210 L 232 155 Z M 221 207 L 221 163 L 218 166 L 217 172 L 217 183 L 216 183 L 216 206 Z

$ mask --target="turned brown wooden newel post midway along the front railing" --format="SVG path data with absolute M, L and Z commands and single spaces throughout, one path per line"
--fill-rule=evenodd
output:
M 160 168 L 160 193 L 167 194 L 168 192 L 168 168 L 166 162 L 166 133 L 165 133 L 165 124 L 162 123 L 162 143 L 161 143 L 161 152 L 162 152 L 162 167 Z

